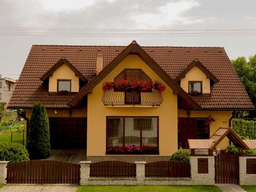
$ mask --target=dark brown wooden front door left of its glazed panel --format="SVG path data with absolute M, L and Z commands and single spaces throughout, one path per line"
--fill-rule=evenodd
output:
M 179 142 L 182 147 L 187 146 L 188 139 L 195 139 L 197 122 L 195 118 L 179 118 Z

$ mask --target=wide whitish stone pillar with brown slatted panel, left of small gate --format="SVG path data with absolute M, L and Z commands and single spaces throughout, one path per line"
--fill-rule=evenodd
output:
M 208 159 L 208 173 L 198 173 L 198 158 Z M 199 159 L 200 160 L 200 159 Z M 214 185 L 214 155 L 190 155 L 191 179 L 194 185 Z

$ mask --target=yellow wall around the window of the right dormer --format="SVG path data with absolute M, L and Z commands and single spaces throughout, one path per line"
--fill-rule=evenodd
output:
M 202 81 L 202 93 L 210 93 L 210 78 L 201 71 L 197 66 L 194 66 L 187 74 L 186 77 L 180 80 L 180 87 L 188 93 L 188 81 Z

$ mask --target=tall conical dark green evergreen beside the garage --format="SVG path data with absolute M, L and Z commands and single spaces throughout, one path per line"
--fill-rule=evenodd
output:
M 50 156 L 49 120 L 45 106 L 40 101 L 34 103 L 29 120 L 27 150 L 30 159 L 44 159 Z

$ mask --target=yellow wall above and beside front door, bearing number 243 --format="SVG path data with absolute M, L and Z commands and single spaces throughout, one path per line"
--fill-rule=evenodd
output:
M 193 111 L 190 110 L 190 117 L 206 117 L 208 115 L 213 115 L 215 118 L 218 118 L 219 121 L 216 121 L 213 125 L 210 125 L 210 136 L 219 129 L 219 127 L 229 127 L 229 119 L 232 116 L 232 111 Z M 187 110 L 178 109 L 178 118 L 187 117 Z M 225 137 L 217 148 L 223 149 L 229 145 L 229 139 Z

